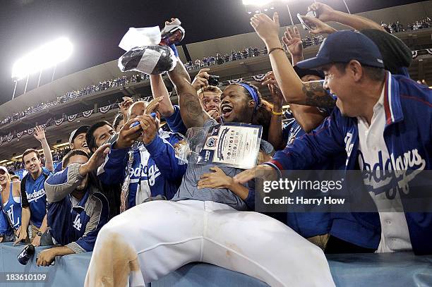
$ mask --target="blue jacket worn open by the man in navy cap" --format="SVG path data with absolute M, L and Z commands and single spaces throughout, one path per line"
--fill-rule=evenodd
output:
M 393 170 L 412 173 L 432 168 L 431 108 L 432 90 L 402 75 L 388 73 L 385 80 L 384 140 Z M 319 128 L 300 139 L 295 140 L 283 151 L 277 152 L 268 164 L 280 170 L 308 169 L 316 161 L 328 159 L 333 154 L 345 151 L 347 152 L 345 170 L 358 169 L 357 120 L 342 116 L 339 109 L 335 109 Z M 383 166 L 380 169 L 383 170 Z M 394 181 L 399 182 L 405 174 L 397 171 L 394 173 Z M 366 192 L 362 183 L 347 184 L 352 187 L 350 190 L 354 194 Z M 356 188 L 357 186 L 362 188 Z M 404 197 L 402 197 L 402 204 L 404 204 Z M 432 213 L 405 212 L 405 217 L 414 252 L 431 254 Z M 357 219 L 366 228 L 376 228 L 380 232 L 378 213 Z M 379 237 L 370 239 L 378 246 Z

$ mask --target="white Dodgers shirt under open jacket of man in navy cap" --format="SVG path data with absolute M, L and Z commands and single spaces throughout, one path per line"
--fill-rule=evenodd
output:
M 371 176 L 364 179 L 364 184 L 380 214 L 381 240 L 376 252 L 412 250 L 400 194 L 395 189 L 385 188 L 391 178 L 388 176 L 388 171 L 392 171 L 393 167 L 384 141 L 383 103 L 384 87 L 380 99 L 373 106 L 371 126 L 366 119 L 357 117 L 360 169 L 371 171 Z

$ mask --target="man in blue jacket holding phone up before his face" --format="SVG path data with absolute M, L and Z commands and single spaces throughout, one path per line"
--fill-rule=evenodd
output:
M 121 128 L 98 172 L 105 184 L 123 183 L 122 211 L 150 197 L 172 199 L 186 171 L 173 147 L 183 137 L 160 130 L 159 114 L 156 118 L 148 115 L 151 106 L 136 102 L 130 107 L 131 119 Z M 131 127 L 137 121 L 140 125 Z

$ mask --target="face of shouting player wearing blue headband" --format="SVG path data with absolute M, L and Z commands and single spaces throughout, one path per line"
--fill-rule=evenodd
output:
M 220 97 L 220 110 L 226 122 L 251 123 L 254 101 L 241 85 L 229 85 Z

